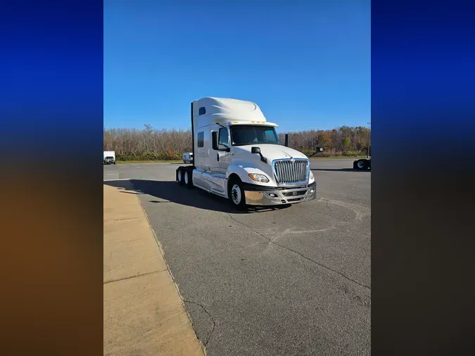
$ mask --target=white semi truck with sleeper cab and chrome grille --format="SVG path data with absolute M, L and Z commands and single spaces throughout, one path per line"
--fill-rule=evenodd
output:
M 317 182 L 306 155 L 281 146 L 260 108 L 251 101 L 202 98 L 191 103 L 193 165 L 176 180 L 248 205 L 286 205 L 315 199 Z

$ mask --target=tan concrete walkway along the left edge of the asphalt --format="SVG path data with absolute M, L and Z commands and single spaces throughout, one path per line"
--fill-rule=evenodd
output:
M 144 208 L 120 180 L 103 185 L 104 355 L 205 355 Z

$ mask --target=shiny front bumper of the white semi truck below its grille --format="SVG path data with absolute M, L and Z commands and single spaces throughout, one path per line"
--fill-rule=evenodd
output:
M 312 201 L 317 197 L 317 182 L 296 188 L 272 188 L 247 184 L 244 188 L 248 205 L 282 205 Z

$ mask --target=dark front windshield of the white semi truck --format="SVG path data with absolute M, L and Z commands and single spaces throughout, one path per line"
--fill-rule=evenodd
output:
M 274 127 L 255 125 L 231 126 L 232 146 L 255 144 L 279 144 L 279 136 Z

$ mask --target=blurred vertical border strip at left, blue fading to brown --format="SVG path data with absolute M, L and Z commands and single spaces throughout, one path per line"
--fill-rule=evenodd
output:
M 1 355 L 103 353 L 103 3 L 0 10 Z

